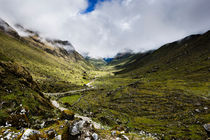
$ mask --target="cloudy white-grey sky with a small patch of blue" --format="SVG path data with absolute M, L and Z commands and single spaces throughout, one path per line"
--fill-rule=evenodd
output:
M 210 0 L 0 0 L 0 17 L 81 54 L 144 52 L 210 30 Z

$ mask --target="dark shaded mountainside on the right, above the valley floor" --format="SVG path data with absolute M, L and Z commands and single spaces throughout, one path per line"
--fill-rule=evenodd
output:
M 182 40 L 166 44 L 158 50 L 134 55 L 121 67 L 118 73 L 170 71 L 191 75 L 201 73 L 208 75 L 210 31 L 204 34 L 188 36 Z M 156 70 L 155 70 L 156 69 Z M 197 75 L 198 76 L 198 75 Z

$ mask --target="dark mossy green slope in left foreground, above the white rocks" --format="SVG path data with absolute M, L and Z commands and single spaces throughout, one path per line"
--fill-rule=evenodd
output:
M 53 106 L 39 91 L 30 73 L 10 60 L 0 53 L 0 124 L 8 122 L 17 128 L 28 127 L 37 118 L 54 116 Z M 19 114 L 23 109 L 26 115 Z

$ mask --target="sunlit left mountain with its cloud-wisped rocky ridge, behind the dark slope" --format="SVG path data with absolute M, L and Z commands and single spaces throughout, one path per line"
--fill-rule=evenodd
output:
M 42 38 L 38 32 L 22 26 L 22 32 L 29 36 L 20 37 L 9 24 L 4 21 L 1 23 L 0 52 L 27 68 L 42 91 L 67 91 L 88 82 L 88 77 L 84 79 L 84 72 L 94 67 L 71 43 Z

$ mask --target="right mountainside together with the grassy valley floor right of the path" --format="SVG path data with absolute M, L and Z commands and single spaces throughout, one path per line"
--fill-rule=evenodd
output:
M 96 80 L 97 89 L 75 105 L 78 111 L 160 139 L 208 137 L 203 125 L 210 122 L 210 31 L 115 58 L 107 67 L 112 69 Z

